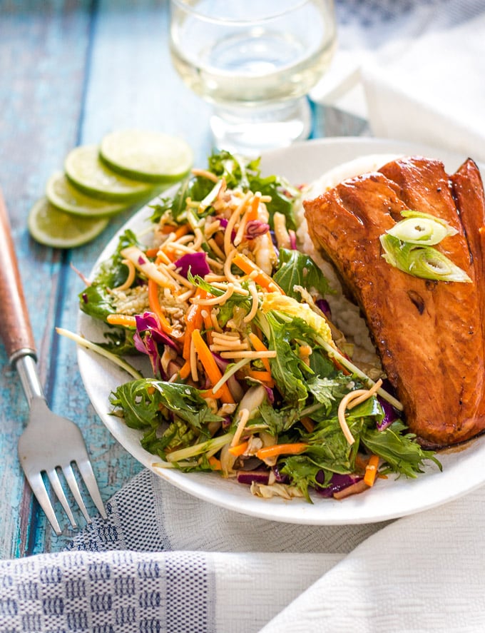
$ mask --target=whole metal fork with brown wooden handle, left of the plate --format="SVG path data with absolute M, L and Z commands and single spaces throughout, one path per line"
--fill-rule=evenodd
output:
M 59 477 L 62 473 L 83 517 L 88 523 L 91 522 L 74 474 L 73 464 L 76 464 L 98 512 L 103 519 L 106 519 L 106 511 L 81 430 L 71 420 L 49 410 L 42 390 L 37 370 L 34 335 L 1 189 L 0 305 L 2 306 L 0 336 L 4 341 L 9 363 L 19 373 L 21 385 L 29 402 L 29 424 L 19 438 L 18 450 L 21 467 L 32 492 L 46 513 L 54 532 L 60 535 L 61 527 L 44 483 L 43 473 L 45 473 L 72 527 L 78 527 Z

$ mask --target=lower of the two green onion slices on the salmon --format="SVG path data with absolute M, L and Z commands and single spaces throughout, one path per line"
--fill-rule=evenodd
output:
M 434 281 L 471 283 L 464 270 L 432 246 L 403 242 L 389 233 L 379 239 L 384 249 L 382 257 L 404 273 Z

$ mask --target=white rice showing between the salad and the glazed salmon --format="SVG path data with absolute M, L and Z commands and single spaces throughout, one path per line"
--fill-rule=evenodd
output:
M 395 158 L 398 158 L 398 156 L 373 154 L 371 156 L 356 158 L 348 163 L 343 163 L 327 171 L 327 173 L 324 173 L 317 181 L 312 183 L 305 191 L 304 198 L 307 200 L 317 198 L 317 196 L 337 186 L 337 184 L 346 178 L 377 171 L 379 167 L 382 167 L 389 161 L 393 161 Z M 300 244 L 300 248 L 315 260 L 329 281 L 331 288 L 336 291 L 335 295 L 328 295 L 326 299 L 330 305 L 330 310 L 332 310 L 333 322 L 337 325 L 337 328 L 344 333 L 349 343 L 355 345 L 354 354 L 352 356 L 353 360 L 355 362 L 360 361 L 376 365 L 377 355 L 375 348 L 374 345 L 372 345 L 367 325 L 360 315 L 359 307 L 344 297 L 342 294 L 342 285 L 339 283 L 333 266 L 325 261 L 317 248 L 315 248 L 308 234 L 305 209 L 302 204 L 297 209 L 297 222 L 297 240 Z

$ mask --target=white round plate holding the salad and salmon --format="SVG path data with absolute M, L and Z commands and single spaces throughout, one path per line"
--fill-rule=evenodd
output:
M 372 138 L 327 138 L 265 154 L 261 163 L 262 173 L 277 173 L 295 184 L 308 183 L 339 163 L 376 153 L 419 153 L 441 158 L 448 170 L 456 169 L 466 158 L 415 144 Z M 150 212 L 149 208 L 142 209 L 123 230 L 143 230 Z M 111 255 L 117 244 L 118 236 L 115 236 L 101 253 L 95 268 Z M 102 326 L 83 313 L 78 320 L 78 331 L 88 339 L 102 340 Z M 315 495 L 314 504 L 300 499 L 290 502 L 281 499 L 262 500 L 253 497 L 245 485 L 224 480 L 213 473 L 153 469 L 157 458 L 141 447 L 141 433 L 129 429 L 121 420 L 110 415 L 108 396 L 111 390 L 130 380 L 130 377 L 108 360 L 82 348 L 78 350 L 78 364 L 88 396 L 101 420 L 136 460 L 190 495 L 245 515 L 308 525 L 377 522 L 441 505 L 485 482 L 485 437 L 469 442 L 466 447 L 442 454 L 440 460 L 443 472 L 430 466 L 416 480 L 394 479 L 391 476 L 387 480 L 379 480 L 372 490 L 344 501 L 326 500 Z

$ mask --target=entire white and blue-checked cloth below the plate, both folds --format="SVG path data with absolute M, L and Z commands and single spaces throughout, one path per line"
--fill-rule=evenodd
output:
M 379 525 L 284 525 L 148 470 L 70 551 L 0 563 L 0 631 L 479 633 L 485 489 Z

